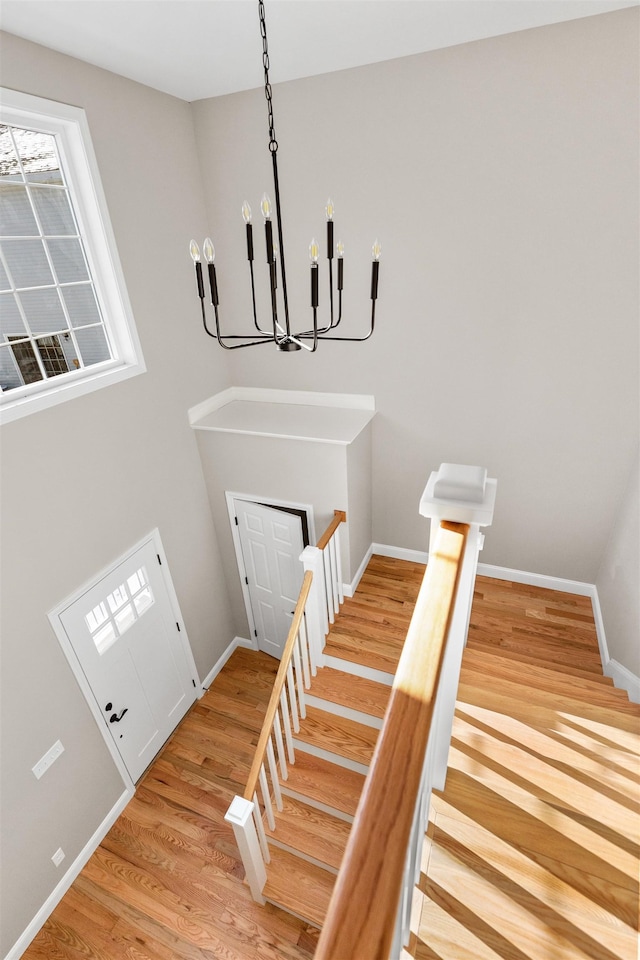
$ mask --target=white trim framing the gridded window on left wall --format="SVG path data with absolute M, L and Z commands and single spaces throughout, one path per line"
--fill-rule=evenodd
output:
M 0 423 L 146 371 L 85 111 L 0 88 L 0 121 L 56 136 L 114 359 L 0 395 Z

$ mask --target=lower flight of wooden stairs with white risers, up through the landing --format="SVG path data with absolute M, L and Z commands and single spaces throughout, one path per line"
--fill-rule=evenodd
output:
M 423 564 L 372 557 L 345 598 L 294 737 L 296 762 L 282 783 L 265 899 L 321 927 L 364 786 Z

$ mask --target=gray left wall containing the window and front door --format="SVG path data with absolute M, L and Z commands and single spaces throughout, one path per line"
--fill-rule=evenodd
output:
M 6 35 L 2 83 L 86 109 L 148 371 L 2 428 L 4 956 L 123 791 L 47 612 L 157 526 L 201 677 L 233 626 L 187 420 L 229 383 L 187 252 L 206 229 L 190 107 Z

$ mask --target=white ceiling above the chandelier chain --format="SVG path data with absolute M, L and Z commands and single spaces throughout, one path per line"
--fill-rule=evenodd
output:
M 266 0 L 270 79 L 637 6 L 640 0 Z M 2 0 L 0 26 L 184 100 L 258 87 L 255 0 Z

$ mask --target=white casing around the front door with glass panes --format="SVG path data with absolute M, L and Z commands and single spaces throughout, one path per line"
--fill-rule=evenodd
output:
M 66 610 L 66 608 L 70 606 L 70 604 L 74 603 L 76 600 L 79 600 L 87 592 L 87 590 L 90 590 L 91 587 L 94 586 L 94 584 L 98 583 L 100 580 L 104 579 L 105 577 L 113 573 L 116 570 L 116 568 L 120 566 L 120 564 L 124 563 L 132 554 L 136 553 L 136 551 L 138 551 L 141 547 L 145 546 L 149 542 L 153 543 L 154 549 L 158 554 L 158 556 L 160 557 L 161 572 L 164 580 L 164 585 L 166 587 L 169 601 L 171 603 L 171 607 L 176 617 L 176 622 L 180 624 L 180 638 L 182 640 L 182 644 L 184 647 L 185 656 L 187 657 L 187 661 L 191 667 L 192 676 L 194 678 L 195 677 L 198 678 L 198 681 L 197 681 L 198 687 L 197 687 L 196 695 L 198 697 L 202 697 L 205 691 L 204 691 L 204 688 L 202 687 L 202 683 L 200 682 L 198 669 L 196 667 L 195 660 L 193 659 L 193 651 L 191 650 L 191 644 L 189 643 L 189 638 L 187 636 L 187 631 L 184 624 L 184 618 L 180 610 L 180 604 L 178 603 L 178 596 L 176 594 L 173 581 L 171 579 L 169 564 L 164 552 L 164 548 L 162 546 L 162 540 L 160 539 L 160 531 L 157 528 L 155 530 L 152 530 L 151 533 L 149 533 L 146 537 L 143 537 L 142 540 L 138 541 L 138 543 L 130 547 L 130 549 L 128 549 L 124 554 L 118 557 L 117 560 L 109 564 L 108 567 L 101 570 L 95 576 L 92 576 L 90 581 L 83 584 L 77 590 L 74 590 L 74 592 L 70 594 L 68 597 L 66 597 L 61 603 L 56 604 L 56 606 L 52 610 L 50 610 L 48 614 L 49 622 L 53 628 L 53 631 L 56 637 L 58 638 L 58 642 L 62 647 L 62 651 L 65 657 L 67 658 L 67 661 L 69 663 L 69 666 L 71 667 L 71 670 L 73 671 L 73 674 L 76 678 L 78 686 L 80 687 L 84 695 L 84 698 L 87 702 L 87 705 L 91 710 L 93 718 L 96 721 L 96 725 L 98 727 L 98 730 L 100 731 L 102 739 L 104 740 L 107 746 L 107 749 L 111 754 L 113 762 L 120 776 L 122 777 L 125 787 L 130 792 L 131 795 L 135 793 L 135 783 L 131 779 L 129 771 L 122 757 L 120 756 L 120 752 L 118 751 L 118 748 L 114 743 L 113 737 L 110 735 L 109 730 L 106 727 L 105 715 L 102 709 L 102 705 L 98 703 L 94 695 L 93 689 L 80 665 L 80 661 L 78 660 L 78 657 L 76 655 L 75 650 L 73 649 L 71 641 L 67 636 L 64 626 L 62 625 L 60 615 L 62 614 L 63 610 Z

